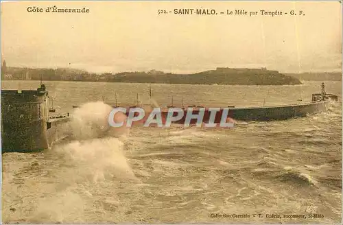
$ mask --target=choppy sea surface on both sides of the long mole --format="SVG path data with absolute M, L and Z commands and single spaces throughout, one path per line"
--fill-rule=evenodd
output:
M 39 82 L 3 82 L 36 88 Z M 60 112 L 104 99 L 134 104 L 147 84 L 46 82 Z M 320 82 L 301 86 L 153 84 L 160 105 L 256 106 L 309 101 Z M 340 82 L 327 82 L 340 95 Z M 74 123 L 77 140 L 35 154 L 5 153 L 3 222 L 303 222 L 339 223 L 342 191 L 342 104 L 287 121 L 238 122 L 222 128 L 132 128 L 119 139 L 87 134 L 103 123 L 103 103 L 88 104 Z M 97 113 L 97 117 L 90 117 Z M 82 125 L 82 126 L 81 126 Z M 82 132 L 80 132 L 82 131 Z M 248 214 L 248 218 L 211 217 Z M 254 217 L 261 213 L 263 217 Z M 266 218 L 279 214 L 281 219 Z M 318 213 L 322 218 L 309 218 Z M 286 218 L 283 215 L 307 215 Z

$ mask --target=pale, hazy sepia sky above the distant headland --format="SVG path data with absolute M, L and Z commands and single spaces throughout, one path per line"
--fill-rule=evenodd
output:
M 27 12 L 28 7 L 88 13 Z M 209 9 L 216 15 L 174 14 Z M 171 11 L 159 14 L 158 10 Z M 220 12 L 246 10 L 248 15 Z M 276 10 L 283 16 L 261 15 Z M 289 14 L 295 10 L 296 16 Z M 303 15 L 299 15 L 299 10 Z M 257 11 L 257 16 L 250 16 Z M 287 15 L 284 14 L 288 12 Z M 331 2 L 2 2 L 1 56 L 10 67 L 193 73 L 216 67 L 341 71 L 342 5 Z

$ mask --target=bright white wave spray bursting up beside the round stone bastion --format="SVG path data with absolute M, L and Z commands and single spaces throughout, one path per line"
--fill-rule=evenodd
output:
M 134 178 L 123 154 L 123 141 L 129 129 L 109 126 L 108 115 L 112 109 L 104 102 L 80 106 L 70 123 L 73 141 L 59 147 L 67 160 L 72 161 L 83 175 L 92 174 L 94 181 L 104 179 L 105 171 L 111 176 Z

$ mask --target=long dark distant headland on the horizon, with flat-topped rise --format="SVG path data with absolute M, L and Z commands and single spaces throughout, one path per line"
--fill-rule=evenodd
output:
M 5 63 L 5 62 L 4 62 Z M 295 85 L 301 84 L 298 78 L 284 75 L 278 71 L 261 69 L 234 69 L 218 67 L 200 73 L 176 74 L 151 70 L 148 72 L 88 73 L 80 69 L 31 69 L 6 67 L 3 63 L 3 80 L 64 80 L 86 82 L 130 82 L 157 84 L 241 84 L 241 85 Z

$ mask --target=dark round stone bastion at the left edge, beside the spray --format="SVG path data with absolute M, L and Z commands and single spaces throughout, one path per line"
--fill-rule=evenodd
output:
M 59 127 L 69 121 L 68 117 L 50 119 L 44 84 L 37 90 L 1 90 L 1 152 L 36 152 L 49 148 L 64 136 L 58 134 Z

